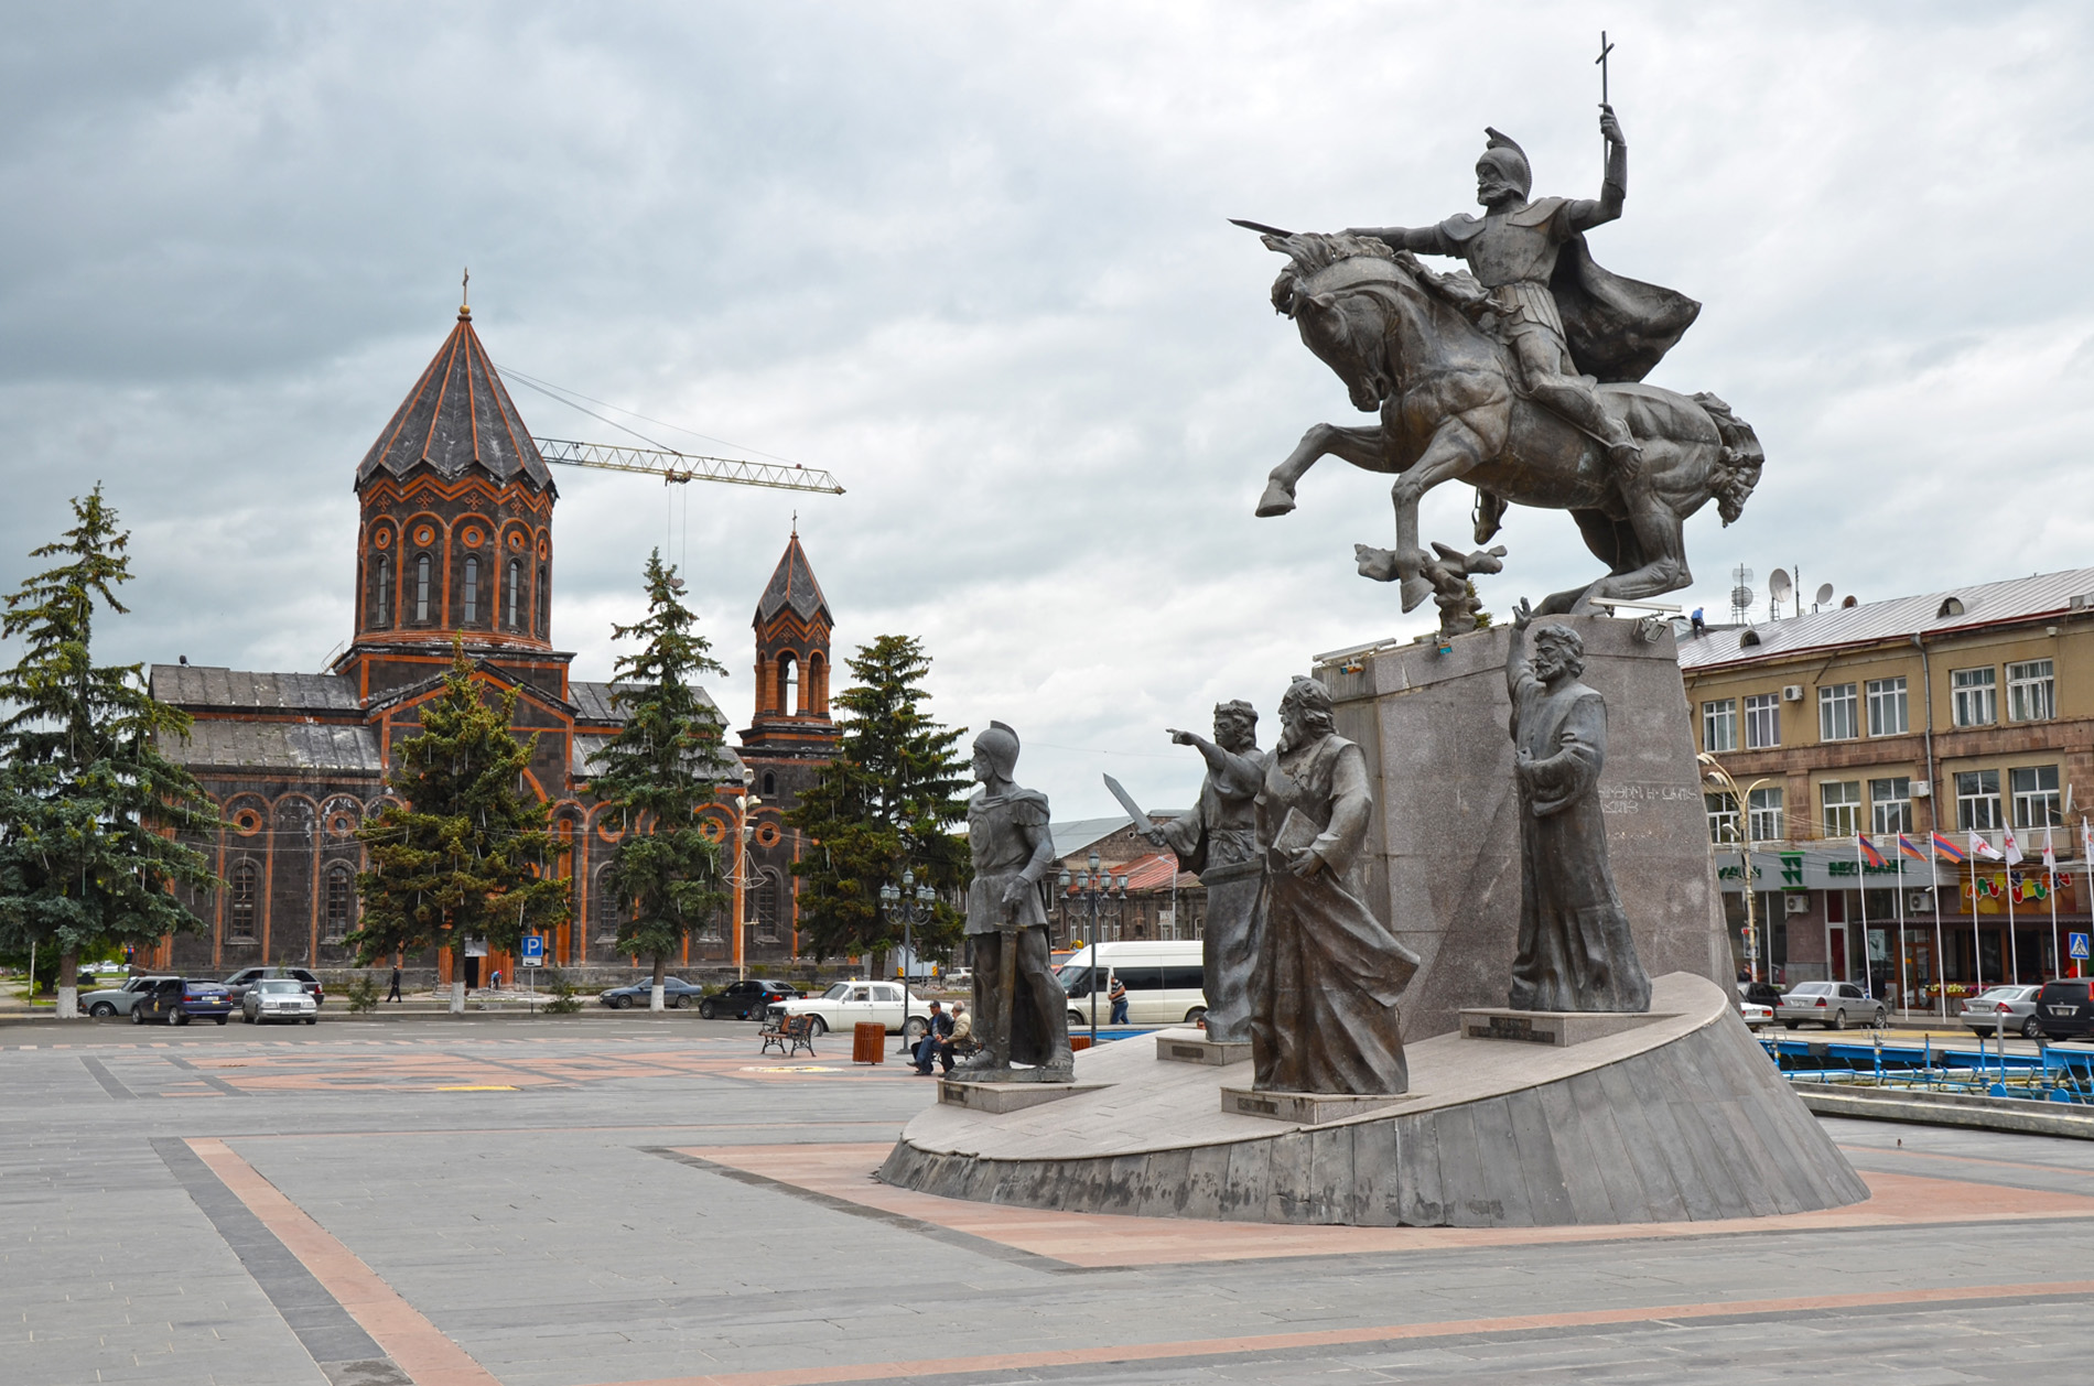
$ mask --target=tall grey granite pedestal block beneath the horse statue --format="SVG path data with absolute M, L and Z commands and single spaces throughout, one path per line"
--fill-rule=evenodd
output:
M 1583 683 L 1606 697 L 1608 856 L 1652 978 L 1730 986 L 1709 819 L 1669 626 L 1608 616 L 1537 618 L 1585 641 Z M 1405 645 L 1315 668 L 1338 735 L 1374 777 L 1367 904 L 1422 959 L 1403 994 L 1405 1043 L 1445 1034 L 1460 1011 L 1501 1007 L 1520 930 L 1520 827 L 1512 783 L 1508 630 Z

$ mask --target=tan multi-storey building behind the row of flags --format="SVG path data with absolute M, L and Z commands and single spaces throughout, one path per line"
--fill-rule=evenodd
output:
M 1744 800 L 1707 796 L 1740 965 L 1753 890 L 1782 982 L 1939 1003 L 2058 974 L 2090 919 L 2075 785 L 2094 793 L 2094 567 L 1681 632 L 1679 670 L 1696 743 Z M 2002 848 L 2008 829 L 2021 865 L 1929 846 L 1975 831 Z

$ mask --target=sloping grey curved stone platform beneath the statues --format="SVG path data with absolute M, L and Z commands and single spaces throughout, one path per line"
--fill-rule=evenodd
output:
M 1573 1043 L 1436 1034 L 1407 1045 L 1409 1093 L 1336 1116 L 1256 1112 L 1248 1061 L 1191 1059 L 1198 1045 L 1177 1061 L 1173 1032 L 1118 1041 L 1076 1055 L 1078 1087 L 1057 1101 L 940 1101 L 879 1177 L 1062 1212 L 1380 1227 L 1679 1223 L 1868 1198 L 1725 988 L 1675 971 L 1648 1018 L 1623 1020 Z

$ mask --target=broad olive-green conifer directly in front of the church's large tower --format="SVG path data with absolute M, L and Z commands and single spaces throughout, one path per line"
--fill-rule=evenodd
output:
M 515 706 L 515 689 L 482 697 L 456 643 L 444 691 L 421 706 L 421 735 L 394 743 L 387 785 L 406 802 L 356 831 L 371 869 L 356 877 L 364 917 L 348 944 L 362 965 L 429 944 L 456 955 L 480 938 L 509 953 L 524 934 L 567 917 L 553 810 L 524 781 L 538 737 L 509 733 Z M 465 1009 L 463 974 L 452 978 L 450 1007 Z

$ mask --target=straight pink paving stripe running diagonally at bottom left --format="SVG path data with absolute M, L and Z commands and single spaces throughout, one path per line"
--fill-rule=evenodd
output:
M 197 1152 L 218 1179 L 276 1233 L 314 1279 L 350 1311 L 366 1334 L 415 1386 L 500 1386 L 498 1378 L 467 1357 L 465 1348 L 438 1332 L 413 1304 L 379 1279 L 350 1248 L 341 1246 L 304 1208 L 241 1160 L 224 1141 L 195 1137 Z

